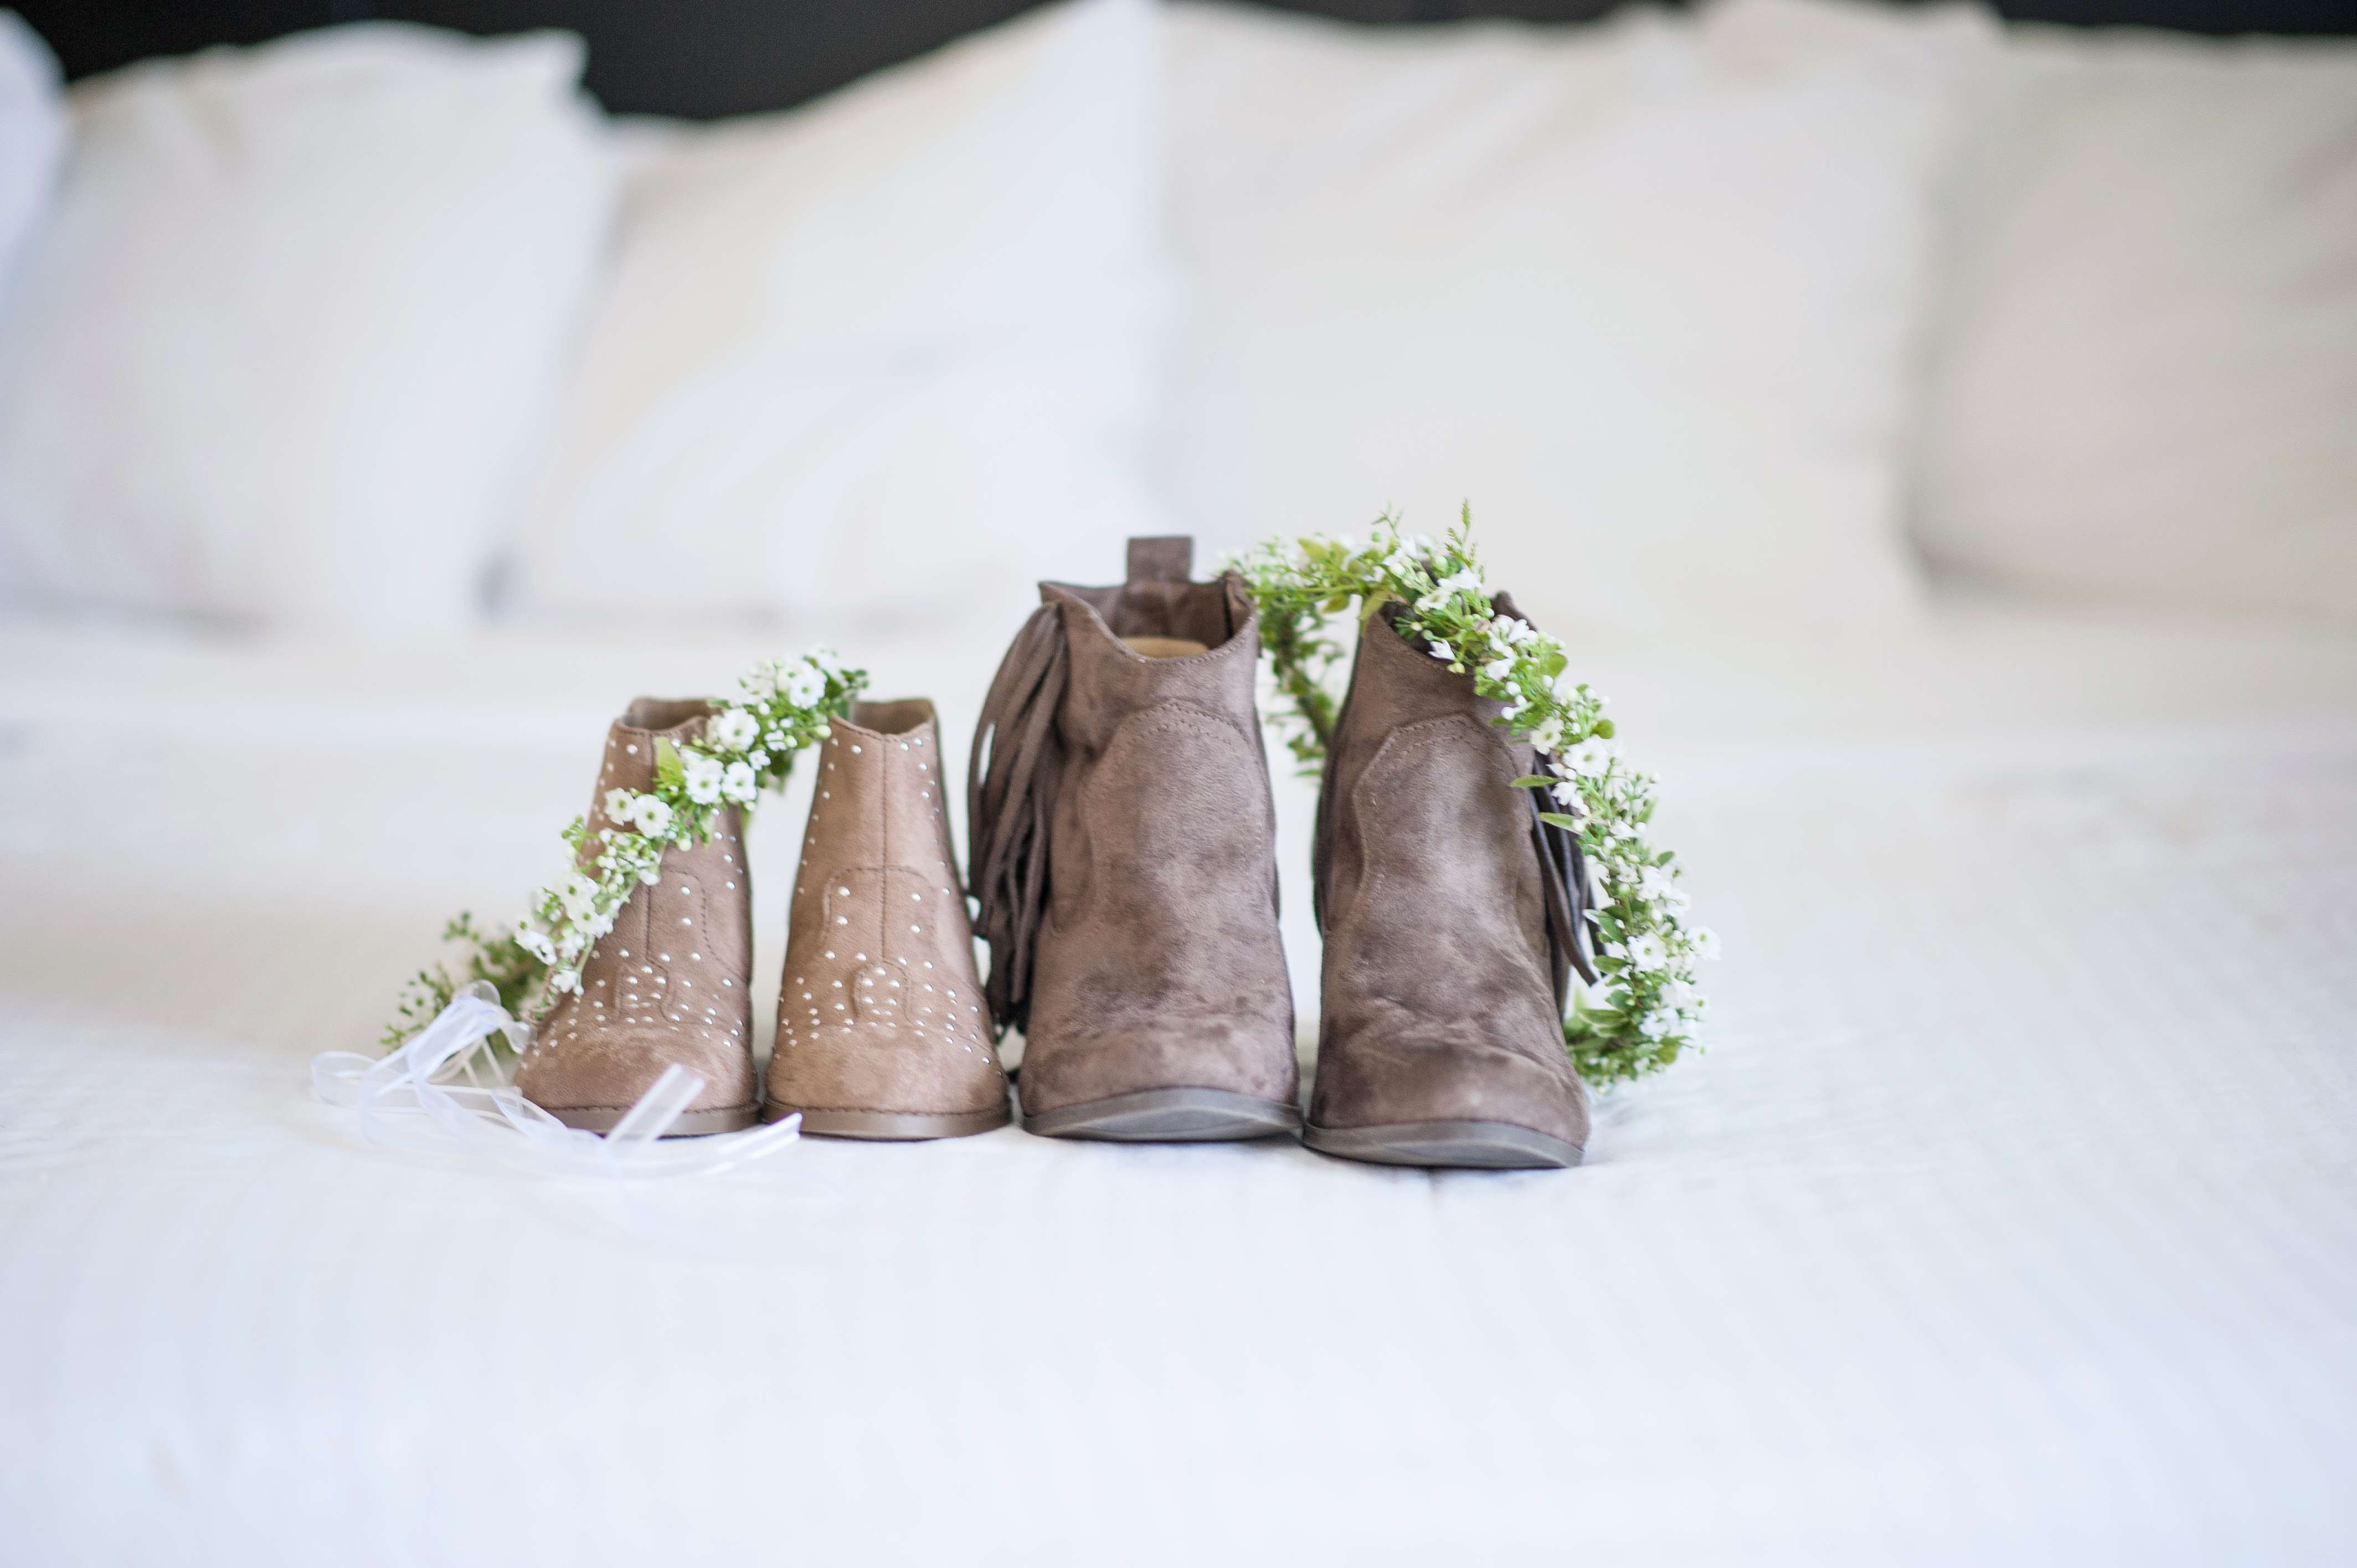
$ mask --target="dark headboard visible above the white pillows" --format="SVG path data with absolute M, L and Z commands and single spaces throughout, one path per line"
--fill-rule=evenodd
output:
M 68 75 L 148 54 L 391 17 L 469 33 L 573 28 L 589 90 L 618 113 L 714 118 L 785 108 L 1004 21 L 1037 0 L 9 0 Z M 1615 0 L 1303 0 L 1365 24 L 1464 17 L 1586 21 Z M 1999 0 L 2006 17 L 2190 33 L 2357 33 L 2357 0 Z

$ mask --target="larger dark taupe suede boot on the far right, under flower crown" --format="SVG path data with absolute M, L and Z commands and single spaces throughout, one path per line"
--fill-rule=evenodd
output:
M 1360 627 L 1318 797 L 1325 1007 L 1301 1141 L 1384 1165 L 1577 1165 L 1577 851 L 1513 788 L 1534 752 L 1494 724 L 1499 703 L 1393 615 Z

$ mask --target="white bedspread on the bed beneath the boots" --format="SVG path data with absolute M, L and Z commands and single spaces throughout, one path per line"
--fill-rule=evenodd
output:
M 839 644 L 962 733 L 1004 632 Z M 0 627 L 0 1561 L 2357 1556 L 2357 644 L 1596 660 L 1728 957 L 1577 1172 L 1006 1129 L 625 1198 L 309 1103 L 747 651 Z

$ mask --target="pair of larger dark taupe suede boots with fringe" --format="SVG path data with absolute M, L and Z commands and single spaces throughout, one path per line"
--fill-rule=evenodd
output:
M 1318 804 L 1325 1007 L 1308 1120 L 1277 938 L 1259 618 L 1193 542 L 1115 587 L 1044 582 L 969 769 L 990 1009 L 1025 1037 L 1023 1125 L 1254 1139 L 1391 1165 L 1560 1167 L 1586 1146 L 1563 1049 L 1577 851 L 1511 788 L 1534 755 L 1466 674 L 1376 615 Z M 1516 613 L 1499 599 L 1499 613 Z

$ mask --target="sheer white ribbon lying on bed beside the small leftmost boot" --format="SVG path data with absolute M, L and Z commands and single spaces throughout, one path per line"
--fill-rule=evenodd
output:
M 462 1148 L 540 1172 L 582 1177 L 702 1177 L 792 1144 L 801 1118 L 768 1127 L 662 1141 L 702 1094 L 705 1080 L 679 1063 L 639 1096 L 613 1132 L 566 1127 L 523 1099 L 500 1070 L 493 1035 L 521 1056 L 530 1023 L 500 1007 L 486 981 L 462 988 L 431 1023 L 389 1056 L 323 1052 L 311 1059 L 311 1094 L 361 1113 L 361 1137 L 396 1148 Z

